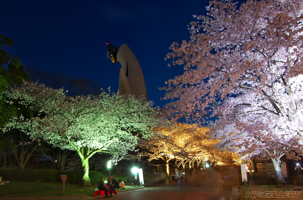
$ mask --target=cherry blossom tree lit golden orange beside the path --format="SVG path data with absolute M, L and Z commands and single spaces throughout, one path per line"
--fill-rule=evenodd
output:
M 177 166 L 196 162 L 197 165 L 206 161 L 225 164 L 225 159 L 207 133 L 210 129 L 198 127 L 198 124 L 173 124 L 169 127 L 155 127 L 155 134 L 148 139 L 141 139 L 138 144 L 144 151 L 139 156 L 148 156 L 148 161 L 161 159 L 165 162 L 166 173 L 169 175 L 169 161 L 177 160 Z M 224 163 L 225 162 L 225 163 Z

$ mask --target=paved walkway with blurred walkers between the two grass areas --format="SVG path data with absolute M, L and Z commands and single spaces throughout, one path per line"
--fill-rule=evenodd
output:
M 197 174 L 192 176 L 188 182 L 189 187 L 185 187 L 187 185 L 183 185 L 183 183 L 181 183 L 181 187 L 178 188 L 177 182 L 174 182 L 166 184 L 154 184 L 151 185 L 151 187 L 145 187 L 144 189 L 120 192 L 118 195 L 112 197 L 108 196 L 108 198 L 73 197 L 65 199 L 104 200 L 105 198 L 111 200 L 229 200 L 231 195 L 231 187 L 217 187 L 216 179 L 211 177 L 211 174 Z M 43 198 L 43 200 L 58 200 L 58 198 Z

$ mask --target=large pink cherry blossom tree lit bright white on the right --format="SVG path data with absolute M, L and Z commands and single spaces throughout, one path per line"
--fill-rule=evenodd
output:
M 208 16 L 191 22 L 189 41 L 173 43 L 183 75 L 167 82 L 172 118 L 219 120 L 221 146 L 244 158 L 273 161 L 277 185 L 283 155 L 302 155 L 303 38 L 300 0 L 211 1 Z

